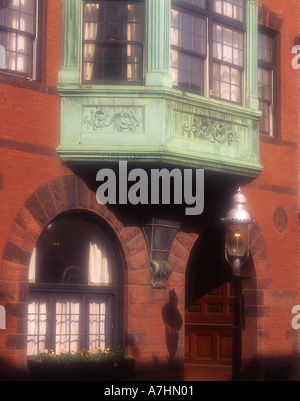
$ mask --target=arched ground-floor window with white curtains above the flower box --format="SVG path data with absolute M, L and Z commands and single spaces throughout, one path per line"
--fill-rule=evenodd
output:
M 28 355 L 121 345 L 120 257 L 83 212 L 44 229 L 29 268 Z

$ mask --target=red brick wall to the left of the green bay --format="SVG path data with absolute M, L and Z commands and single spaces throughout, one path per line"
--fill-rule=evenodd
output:
M 59 144 L 61 0 L 45 1 L 44 79 L 37 83 L 0 73 L 0 260 L 12 222 L 27 197 L 42 183 L 66 172 L 55 147 Z M 28 236 L 25 242 L 32 243 Z M 26 366 L 23 345 L 14 335 L 26 332 L 27 287 L 24 267 L 0 266 L 1 305 L 7 328 L 0 331 L 0 364 Z M 9 336 L 12 337 L 9 337 Z M 7 364 L 7 365 L 6 365 Z

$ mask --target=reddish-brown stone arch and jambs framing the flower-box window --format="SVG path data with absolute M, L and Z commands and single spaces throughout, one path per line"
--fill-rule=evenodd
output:
M 35 243 L 53 218 L 75 209 L 92 212 L 105 222 L 120 244 L 124 274 L 130 276 L 134 271 L 135 278 L 138 276 L 139 279 L 137 285 L 150 285 L 147 245 L 139 227 L 125 227 L 108 207 L 98 204 L 95 193 L 74 174 L 45 182 L 27 198 L 14 218 L 3 252 L 0 301 L 5 304 L 7 318 L 16 327 L 15 331 L 4 334 L 5 351 L 14 355 L 3 362 L 4 369 L 7 364 L 16 369 L 26 369 L 27 366 L 28 269 Z M 126 299 L 129 298 L 128 291 L 128 285 L 125 285 Z M 128 316 L 130 306 L 124 310 L 125 333 L 130 331 Z M 15 361 L 13 364 L 12 359 Z

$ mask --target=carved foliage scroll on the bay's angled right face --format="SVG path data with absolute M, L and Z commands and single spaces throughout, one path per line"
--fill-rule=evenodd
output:
M 237 146 L 239 143 L 239 134 L 233 131 L 230 124 L 202 118 L 193 118 L 192 124 L 185 122 L 183 136 L 228 146 Z

